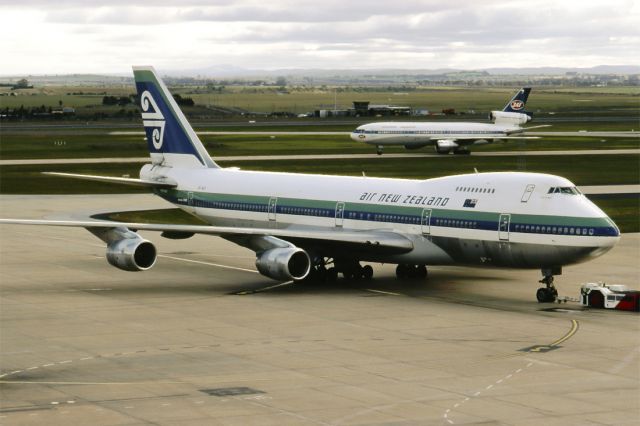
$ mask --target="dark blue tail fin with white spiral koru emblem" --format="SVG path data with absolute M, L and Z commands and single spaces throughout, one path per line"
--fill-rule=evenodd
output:
M 151 161 L 172 167 L 218 168 L 153 67 L 133 67 Z

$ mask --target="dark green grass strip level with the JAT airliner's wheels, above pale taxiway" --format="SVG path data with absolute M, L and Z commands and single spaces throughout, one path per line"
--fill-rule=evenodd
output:
M 295 129 L 300 131 L 301 129 Z M 306 130 L 306 129 L 305 129 Z M 544 130 L 544 129 L 543 129 Z M 276 131 L 276 130 L 274 130 Z M 212 156 L 277 154 L 373 153 L 375 147 L 352 141 L 347 135 L 203 135 Z M 525 150 L 574 150 L 639 148 L 640 138 L 545 137 L 512 140 L 472 147 L 476 152 Z M 385 147 L 385 152 L 406 153 L 403 147 Z M 425 147 L 416 153 L 432 153 Z M 101 158 L 144 157 L 147 143 L 139 135 L 110 135 L 104 131 L 9 132 L 0 142 L 0 158 Z

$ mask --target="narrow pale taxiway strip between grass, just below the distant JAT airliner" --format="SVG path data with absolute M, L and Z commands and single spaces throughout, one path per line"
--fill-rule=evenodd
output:
M 640 149 L 592 149 L 570 151 L 494 151 L 471 152 L 473 157 L 516 157 L 516 156 L 544 156 L 544 155 L 638 155 Z M 466 156 L 465 156 L 466 157 Z M 384 158 L 458 158 L 455 155 L 442 154 L 310 154 L 310 155 L 241 155 L 214 157 L 216 162 L 226 161 L 297 161 L 297 160 L 362 160 Z M 0 160 L 0 166 L 26 166 L 47 164 L 103 164 L 103 163 L 148 163 L 149 157 L 108 157 L 108 158 L 47 158 L 25 160 Z

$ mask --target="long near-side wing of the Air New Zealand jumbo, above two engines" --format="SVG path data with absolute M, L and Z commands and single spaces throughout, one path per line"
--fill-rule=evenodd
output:
M 241 228 L 209 225 L 173 225 L 151 223 L 128 223 L 99 220 L 32 220 L 0 219 L 0 224 L 48 225 L 80 228 L 128 228 L 131 230 L 160 231 L 179 234 L 206 234 L 224 238 L 276 237 L 300 246 L 313 244 L 319 246 L 353 248 L 375 254 L 400 254 L 413 249 L 413 242 L 407 237 L 386 230 L 343 231 L 322 228 L 269 229 Z

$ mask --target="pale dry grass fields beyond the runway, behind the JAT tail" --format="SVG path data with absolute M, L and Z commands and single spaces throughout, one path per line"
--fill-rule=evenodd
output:
M 502 109 L 517 88 L 486 87 L 408 87 L 406 90 L 379 90 L 353 86 L 323 88 L 287 88 L 282 92 L 274 87 L 227 86 L 222 93 L 207 92 L 206 88 L 172 87 L 174 94 L 193 98 L 197 105 L 217 105 L 243 108 L 248 111 L 270 113 L 290 111 L 306 113 L 317 109 L 350 108 L 353 101 L 369 101 L 371 104 L 403 105 L 440 112 L 454 108 L 458 112 L 474 110 L 486 113 Z M 7 89 L 4 89 L 6 91 Z M 84 92 L 73 95 L 70 93 Z M 102 106 L 103 93 L 125 96 L 135 93 L 131 86 L 123 87 L 56 87 L 46 86 L 20 90 L 18 96 L 0 97 L 1 108 L 70 106 L 78 114 L 112 111 L 120 107 Z M 536 88 L 529 97 L 527 109 L 533 112 L 599 112 L 614 110 L 618 114 L 638 112 L 640 87 L 593 88 Z M 188 109 L 187 109 L 188 112 Z

